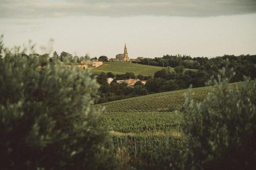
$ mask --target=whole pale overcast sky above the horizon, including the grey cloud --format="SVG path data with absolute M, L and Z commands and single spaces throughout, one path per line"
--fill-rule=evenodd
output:
M 79 56 L 256 54 L 256 0 L 0 0 L 0 23 L 9 47 Z

